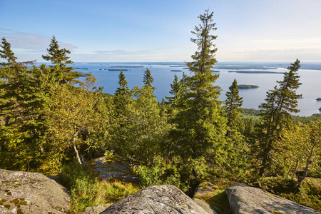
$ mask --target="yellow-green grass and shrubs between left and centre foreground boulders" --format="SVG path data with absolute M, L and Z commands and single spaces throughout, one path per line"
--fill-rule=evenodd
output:
M 71 191 L 70 213 L 81 213 L 87 207 L 115 203 L 139 190 L 131 183 L 98 180 L 91 170 L 84 169 L 76 162 L 65 165 L 59 177 L 61 183 Z

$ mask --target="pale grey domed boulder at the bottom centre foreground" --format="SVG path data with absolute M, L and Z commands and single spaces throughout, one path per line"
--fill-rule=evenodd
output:
M 208 214 L 173 185 L 152 185 L 114 203 L 101 214 Z

